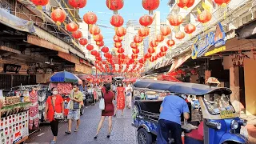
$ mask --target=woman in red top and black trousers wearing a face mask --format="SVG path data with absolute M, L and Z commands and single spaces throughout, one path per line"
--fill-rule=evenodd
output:
M 58 119 L 54 119 L 54 112 L 64 114 L 64 102 L 61 95 L 58 94 L 58 89 L 51 89 L 52 95 L 46 100 L 45 121 L 50 122 L 51 132 L 54 134 L 54 139 L 51 144 L 56 143 L 58 136 Z

